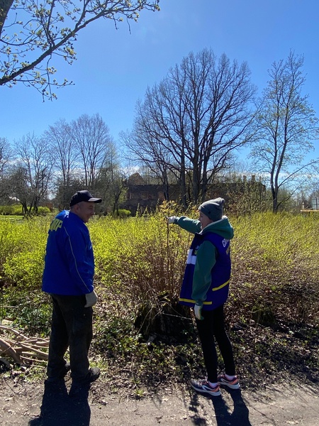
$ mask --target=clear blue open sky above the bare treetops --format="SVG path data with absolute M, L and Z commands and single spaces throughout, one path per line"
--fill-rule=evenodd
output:
M 79 33 L 74 65 L 52 62 L 57 80 L 75 83 L 57 90 L 57 100 L 43 102 L 23 85 L 0 87 L 0 137 L 13 142 L 27 133 L 40 136 L 59 119 L 99 113 L 118 141 L 118 133 L 132 128 L 147 86 L 203 48 L 247 61 L 260 91 L 274 61 L 290 50 L 304 55 L 304 94 L 319 116 L 319 0 L 160 0 L 159 6 L 159 12 L 142 11 L 131 33 L 125 22 L 116 31 L 106 20 Z

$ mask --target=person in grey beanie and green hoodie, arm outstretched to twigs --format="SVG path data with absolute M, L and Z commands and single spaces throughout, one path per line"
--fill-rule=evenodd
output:
M 208 200 L 198 207 L 199 218 L 168 217 L 169 224 L 177 224 L 194 234 L 187 256 L 179 302 L 194 308 L 198 336 L 203 349 L 207 378 L 191 381 L 198 392 L 220 395 L 220 385 L 239 389 L 235 372 L 233 346 L 225 331 L 224 304 L 228 298 L 230 281 L 230 239 L 234 230 L 223 216 L 223 198 Z M 218 376 L 218 357 L 215 340 L 225 364 L 225 373 Z

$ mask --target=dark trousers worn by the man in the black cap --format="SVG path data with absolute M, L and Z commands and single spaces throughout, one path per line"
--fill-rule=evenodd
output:
M 51 295 L 52 325 L 47 362 L 48 377 L 63 377 L 69 346 L 71 377 L 82 380 L 89 373 L 88 352 L 92 339 L 93 309 L 84 307 L 85 295 Z

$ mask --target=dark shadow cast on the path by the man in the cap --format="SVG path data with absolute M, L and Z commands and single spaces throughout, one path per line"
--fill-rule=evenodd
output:
M 90 386 L 71 388 L 67 393 L 65 381 L 47 383 L 43 393 L 40 415 L 28 423 L 29 426 L 89 426 Z

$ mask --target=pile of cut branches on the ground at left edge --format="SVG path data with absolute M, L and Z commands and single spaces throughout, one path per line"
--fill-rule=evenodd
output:
M 46 363 L 47 351 L 43 349 L 48 346 L 49 339 L 26 337 L 18 330 L 0 324 L 0 354 L 10 356 L 16 364 Z

